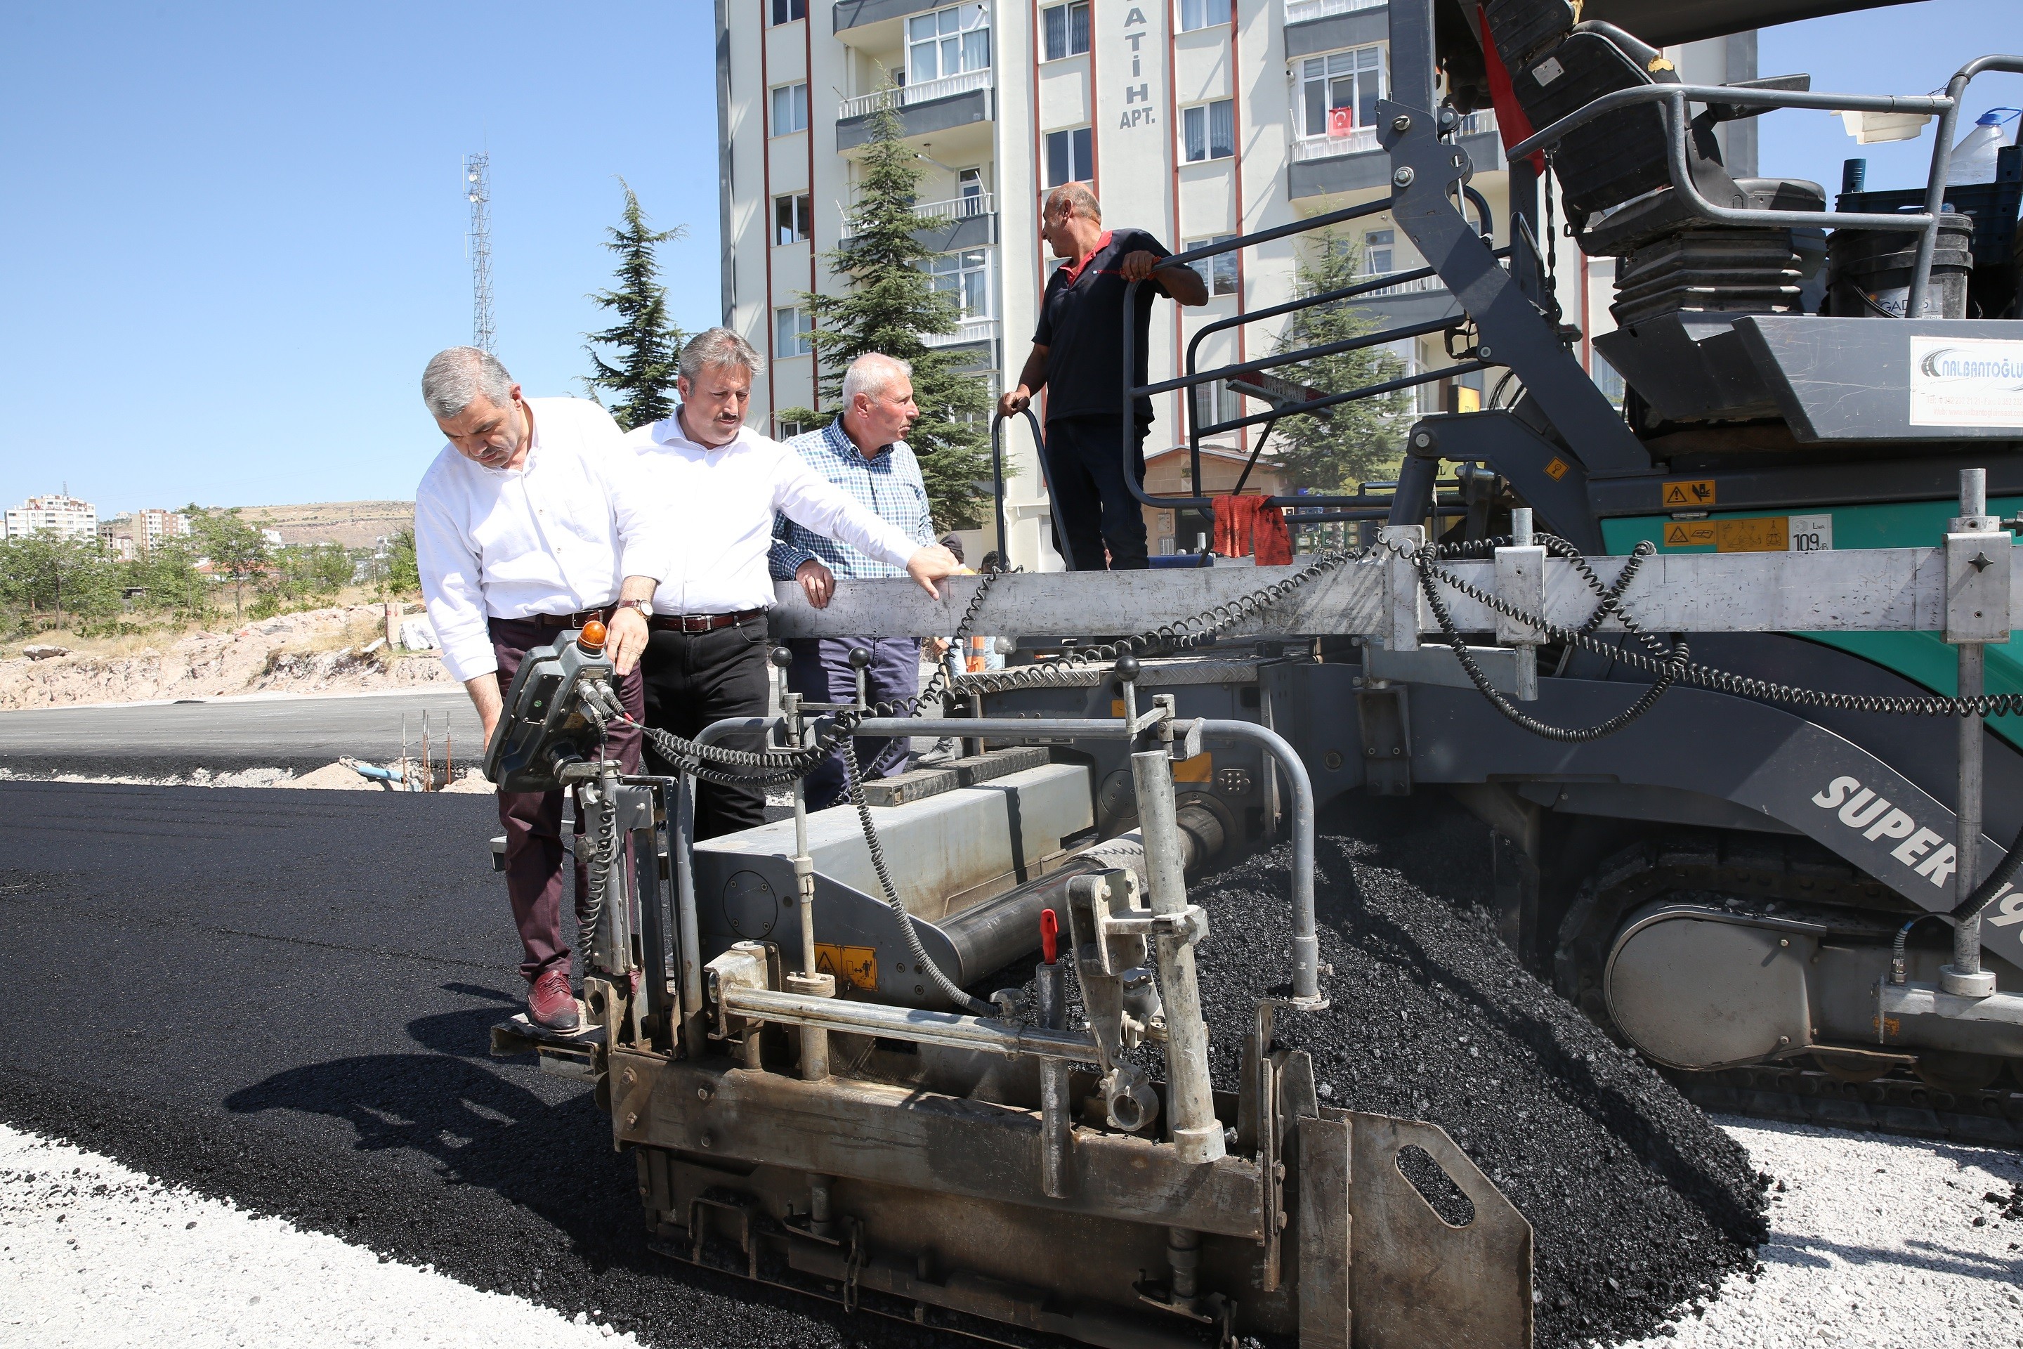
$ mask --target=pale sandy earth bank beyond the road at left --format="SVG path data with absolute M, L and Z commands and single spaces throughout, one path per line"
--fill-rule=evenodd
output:
M 415 607 L 419 611 L 419 605 Z M 340 694 L 447 684 L 435 651 L 388 649 L 380 605 L 338 605 L 225 631 L 77 641 L 61 633 L 28 645 L 67 647 L 30 659 L 0 655 L 0 710 L 83 702 L 218 698 L 227 694 Z M 380 641 L 376 649 L 374 641 Z

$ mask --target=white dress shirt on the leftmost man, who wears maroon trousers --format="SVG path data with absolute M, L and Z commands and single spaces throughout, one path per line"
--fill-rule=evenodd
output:
M 526 404 L 522 467 L 488 469 L 443 445 L 415 489 L 421 595 L 457 680 L 498 671 L 486 619 L 601 609 L 625 576 L 668 574 L 668 520 L 611 415 L 583 398 Z

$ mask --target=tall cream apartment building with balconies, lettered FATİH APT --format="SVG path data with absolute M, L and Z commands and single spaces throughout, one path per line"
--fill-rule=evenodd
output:
M 787 431 L 777 409 L 815 400 L 799 295 L 838 285 L 821 259 L 846 233 L 856 154 L 880 103 L 898 105 L 925 170 L 918 239 L 935 251 L 935 283 L 963 309 L 959 330 L 931 342 L 955 348 L 993 388 L 1016 374 L 1032 338 L 1052 267 L 1038 233 L 1052 186 L 1088 184 L 1105 224 L 1147 229 L 1173 249 L 1388 192 L 1374 127 L 1390 87 L 1382 0 L 718 0 L 716 16 L 722 309 L 767 354 L 753 423 L 773 433 Z M 1695 83 L 1756 75 L 1754 36 L 1671 57 Z M 1728 123 L 1724 136 L 1736 172 L 1754 174 L 1752 123 Z M 1495 115 L 1473 113 L 1461 146 L 1501 241 L 1509 174 Z M 1388 216 L 1357 220 L 1345 243 L 1372 275 L 1424 265 Z M 1285 239 L 1224 255 L 1206 267 L 1206 307 L 1161 301 L 1151 378 L 1181 370 L 1202 326 L 1291 299 L 1299 251 L 1313 247 L 1311 237 Z M 1606 332 L 1606 265 L 1564 239 L 1556 253 L 1568 318 L 1588 336 Z M 1384 326 L 1459 313 L 1438 281 L 1402 281 L 1368 307 Z M 1206 338 L 1200 368 L 1272 350 L 1281 324 Z M 1438 334 L 1394 350 L 1414 372 L 1448 364 Z M 1594 360 L 1586 340 L 1580 350 Z M 1610 382 L 1606 366 L 1596 374 Z M 1424 409 L 1471 407 L 1483 392 L 1481 376 L 1465 376 L 1420 398 Z M 1238 415 L 1236 396 L 1202 390 L 1198 411 L 1224 421 Z M 1183 413 L 1177 392 L 1155 400 L 1147 455 L 1185 443 Z M 1246 435 L 1218 437 L 1218 449 L 1246 455 Z M 1044 542 L 1048 504 L 1030 439 L 1012 429 L 1005 449 L 1018 467 L 1012 558 L 1060 566 Z

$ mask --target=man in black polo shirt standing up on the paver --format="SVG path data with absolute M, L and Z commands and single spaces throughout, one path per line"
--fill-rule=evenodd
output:
M 1040 386 L 1048 390 L 1046 475 L 1068 566 L 1078 572 L 1143 568 L 1145 514 L 1123 465 L 1125 285 L 1151 277 L 1139 287 L 1131 316 L 1133 384 L 1147 382 L 1153 297 L 1165 291 L 1177 303 L 1202 305 L 1208 285 L 1192 267 L 1153 273 L 1171 251 L 1145 231 L 1103 229 L 1103 206 L 1078 182 L 1048 192 L 1040 235 L 1054 257 L 1068 261 L 1046 283 L 1032 356 L 997 411 L 1012 417 Z M 1133 473 L 1143 485 L 1151 398 L 1137 398 L 1131 423 Z

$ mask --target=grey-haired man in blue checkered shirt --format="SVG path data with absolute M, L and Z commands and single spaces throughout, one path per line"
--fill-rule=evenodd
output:
M 912 402 L 912 366 L 892 356 L 858 356 L 844 372 L 844 411 L 821 431 L 787 441 L 819 477 L 868 506 L 880 520 L 904 530 L 916 544 L 935 542 L 920 461 L 902 439 L 920 417 Z M 773 578 L 801 582 L 817 609 L 829 603 L 835 578 L 902 576 L 888 562 L 866 556 L 850 544 L 823 538 L 785 516 L 773 522 Z M 858 671 L 850 651 L 872 653 L 866 671 L 872 702 L 912 700 L 920 694 L 920 641 L 916 637 L 795 637 L 787 643 L 793 663 L 787 688 L 811 702 L 850 702 L 858 696 Z M 890 777 L 906 767 L 906 740 L 858 740 L 858 765 L 866 781 Z M 821 809 L 844 797 L 844 756 L 831 754 L 807 775 L 807 805 Z

